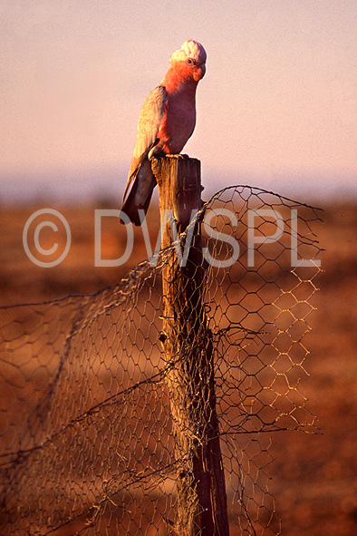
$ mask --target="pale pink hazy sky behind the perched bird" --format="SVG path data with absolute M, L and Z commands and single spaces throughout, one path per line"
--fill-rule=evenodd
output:
M 207 51 L 183 152 L 207 190 L 357 198 L 356 0 L 0 0 L 0 202 L 118 198 L 142 102 Z

